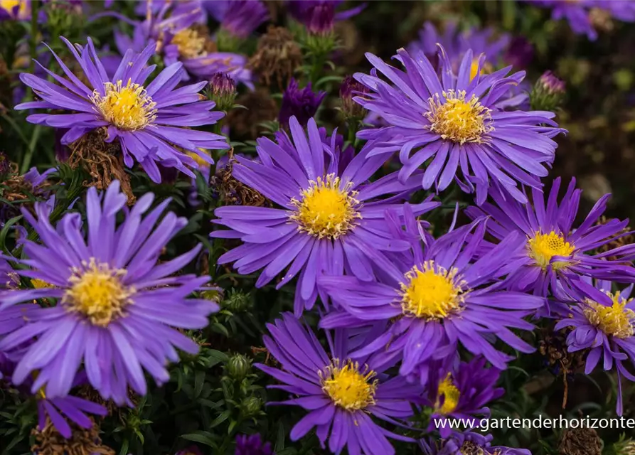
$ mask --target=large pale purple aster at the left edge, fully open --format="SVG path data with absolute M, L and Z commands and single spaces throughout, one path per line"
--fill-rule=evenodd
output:
M 8 352 L 34 340 L 16 365 L 16 385 L 37 371 L 31 392 L 42 389 L 48 398 L 65 397 L 83 365 L 90 385 L 122 404 L 128 387 L 145 395 L 144 370 L 159 384 L 169 380 L 166 364 L 178 361 L 175 348 L 198 352 L 177 328 L 203 328 L 218 310 L 211 301 L 187 299 L 208 277 L 171 275 L 191 262 L 201 245 L 157 264 L 161 250 L 187 220 L 167 213 L 156 225 L 169 200 L 143 217 L 153 200 L 146 193 L 127 209 L 118 181 L 101 195 L 92 187 L 86 228 L 79 213 L 67 213 L 53 228 L 46 205 L 36 203 L 37 219 L 22 210 L 41 243 L 24 243 L 27 259 L 14 260 L 28 268 L 16 273 L 47 285 L 3 291 L 0 312 L 33 299 L 57 299 L 58 304 L 38 307 L 26 325 L 0 341 L 0 351 Z M 117 226 L 120 213 L 125 219 Z

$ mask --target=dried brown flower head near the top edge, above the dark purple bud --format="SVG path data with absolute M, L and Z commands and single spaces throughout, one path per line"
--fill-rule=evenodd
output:
M 287 28 L 269 26 L 260 37 L 258 48 L 249 60 L 249 67 L 260 76 L 260 81 L 271 86 L 277 82 L 282 90 L 299 65 L 302 65 L 302 50 Z

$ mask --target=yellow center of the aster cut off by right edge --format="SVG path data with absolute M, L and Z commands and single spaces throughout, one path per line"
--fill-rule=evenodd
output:
M 611 297 L 612 306 L 604 306 L 587 299 L 589 306 L 585 310 L 585 316 L 590 323 L 607 335 L 615 338 L 630 338 L 635 333 L 635 311 L 626 308 L 626 304 L 633 299 L 621 299 L 619 291 L 615 294 L 604 291 Z

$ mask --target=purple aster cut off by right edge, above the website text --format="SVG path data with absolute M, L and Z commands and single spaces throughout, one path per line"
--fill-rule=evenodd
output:
M 617 414 L 623 413 L 621 377 L 635 381 L 624 362 L 635 365 L 635 302 L 630 298 L 633 285 L 613 291 L 612 282 L 581 279 L 572 283 L 569 296 L 575 304 L 555 330 L 570 328 L 569 352 L 588 350 L 585 375 L 590 375 L 600 359 L 604 370 L 617 369 Z

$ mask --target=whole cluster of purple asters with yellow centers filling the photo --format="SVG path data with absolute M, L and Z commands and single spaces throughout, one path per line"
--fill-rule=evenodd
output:
M 225 136 L 194 129 L 223 117 L 201 100 L 204 79 L 220 71 L 252 82 L 245 59 L 218 52 L 200 25 L 209 14 L 240 38 L 267 18 L 260 1 L 220 3 L 142 4 L 145 19 L 130 21 L 134 36 L 117 36 L 117 65 L 105 65 L 90 38 L 65 41 L 82 77 L 53 53 L 63 75 L 46 66 L 45 77 L 23 73 L 37 100 L 16 109 L 55 109 L 28 121 L 64 129 L 65 144 L 105 131 L 124 164 L 137 162 L 154 181 L 161 168 L 193 177 L 211 164 L 206 151 L 228 148 Z M 336 13 L 337 0 L 289 3 L 314 33 L 358 12 Z M 277 367 L 259 365 L 279 382 L 272 387 L 290 395 L 271 404 L 306 410 L 292 439 L 314 431 L 336 454 L 394 454 L 390 439 L 430 454 L 526 454 L 437 422 L 489 414 L 511 353 L 535 349 L 523 339 L 532 317 L 569 331 L 569 349 L 587 352 L 586 373 L 602 359 L 620 384 L 635 380 L 625 367 L 635 360 L 628 287 L 635 245 L 605 247 L 626 235 L 627 222 L 598 223 L 607 195 L 576 224 L 575 181 L 563 191 L 559 179 L 545 188 L 553 138 L 564 130 L 552 112 L 526 108 L 518 92 L 523 71 L 500 68 L 511 47 L 488 31 L 439 36 L 427 26 L 420 42 L 397 50 L 400 68 L 368 54 L 373 70 L 348 81 L 353 101 L 378 119 L 358 132 L 361 150 L 345 147 L 311 116 L 289 115 L 286 129 L 257 139 L 257 159 L 236 157 L 233 177 L 270 206 L 217 208 L 211 236 L 240 244 L 218 262 L 240 274 L 260 271 L 256 287 L 295 283 L 293 313 L 270 323 L 264 338 Z M 166 68 L 151 77 L 149 60 L 157 56 Z M 553 77 L 543 83 L 561 89 Z M 389 160 L 399 170 L 376 178 Z M 457 213 L 435 238 L 426 218 L 450 186 L 474 195 L 465 210 L 471 222 L 457 226 Z M 177 274 L 200 245 L 159 262 L 187 223 L 165 213 L 168 204 L 154 205 L 146 193 L 127 208 L 114 181 L 101 193 L 90 188 L 85 222 L 70 212 L 52 223 L 47 203 L 23 210 L 38 240 L 23 240 L 20 256 L 0 258 L 0 366 L 36 397 L 41 426 L 50 419 L 70 436 L 68 419 L 86 427 L 87 414 L 105 413 L 73 395 L 78 385 L 130 404 L 129 390 L 146 393 L 146 373 L 160 385 L 177 349 L 197 352 L 184 331 L 206 327 L 218 306 L 197 297 L 208 277 Z M 318 330 L 304 323 L 307 311 L 319 314 Z M 430 411 L 429 426 L 412 427 L 422 410 Z

